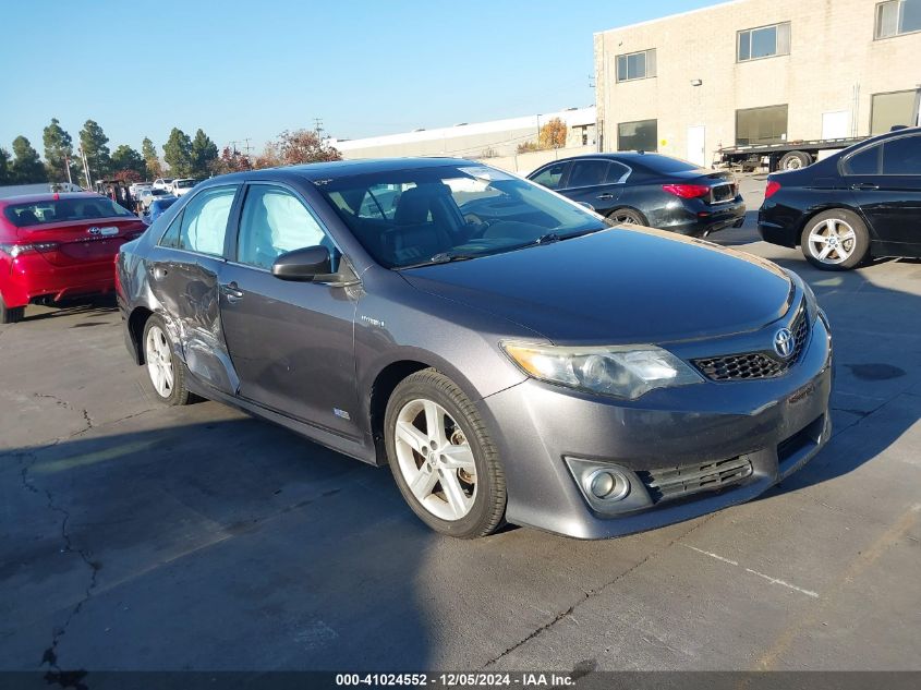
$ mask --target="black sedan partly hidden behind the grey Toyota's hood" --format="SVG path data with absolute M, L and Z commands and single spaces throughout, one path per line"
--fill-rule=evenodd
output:
M 727 172 L 659 154 L 593 154 L 538 168 L 528 179 L 590 206 L 617 223 L 705 238 L 738 228 L 746 205 Z

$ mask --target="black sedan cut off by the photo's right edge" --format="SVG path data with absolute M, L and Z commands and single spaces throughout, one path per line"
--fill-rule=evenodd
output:
M 767 178 L 758 227 L 825 270 L 921 256 L 921 128 L 888 132 Z

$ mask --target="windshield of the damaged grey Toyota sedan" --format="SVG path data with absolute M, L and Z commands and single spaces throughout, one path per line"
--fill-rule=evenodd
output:
M 327 180 L 317 189 L 388 268 L 487 256 L 607 227 L 543 187 L 473 164 Z

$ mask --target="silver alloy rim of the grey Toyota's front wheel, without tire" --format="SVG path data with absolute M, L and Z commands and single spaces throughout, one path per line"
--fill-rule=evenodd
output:
M 420 505 L 441 520 L 465 517 L 476 500 L 476 464 L 447 410 L 432 400 L 411 400 L 397 415 L 393 437 L 400 472 Z

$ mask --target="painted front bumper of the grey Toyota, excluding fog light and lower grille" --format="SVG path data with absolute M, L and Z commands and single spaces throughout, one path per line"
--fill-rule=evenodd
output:
M 602 399 L 529 379 L 485 398 L 481 411 L 504 459 L 507 518 L 578 538 L 641 532 L 743 503 L 805 464 L 831 435 L 831 338 L 817 318 L 807 349 L 773 379 L 654 390 Z M 625 468 L 643 509 L 602 513 L 565 458 Z M 751 473 L 722 491 L 656 500 L 641 475 L 748 460 Z

